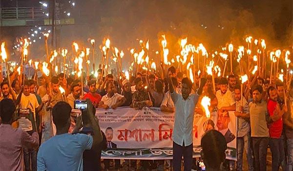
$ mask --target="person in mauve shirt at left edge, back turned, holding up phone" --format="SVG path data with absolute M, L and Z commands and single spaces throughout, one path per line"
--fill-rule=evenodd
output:
M 22 148 L 39 147 L 39 135 L 33 113 L 25 116 L 32 125 L 32 135 L 29 135 L 21 128 L 12 128 L 15 110 L 13 100 L 6 98 L 0 102 L 0 171 L 23 171 Z

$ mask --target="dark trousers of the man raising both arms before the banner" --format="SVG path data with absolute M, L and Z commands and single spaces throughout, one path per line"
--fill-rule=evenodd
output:
M 183 156 L 184 171 L 191 171 L 193 144 L 183 146 L 173 141 L 173 171 L 181 171 L 181 160 Z

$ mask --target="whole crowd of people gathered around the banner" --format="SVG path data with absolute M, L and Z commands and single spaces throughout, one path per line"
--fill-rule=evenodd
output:
M 232 73 L 226 78 L 212 78 L 207 73 L 195 75 L 194 83 L 171 66 L 166 78 L 146 71 L 130 76 L 112 72 L 105 77 L 89 75 L 83 80 L 63 73 L 48 78 L 29 79 L 10 74 L 1 82 L 0 97 L 0 171 L 108 171 L 112 163 L 120 170 L 185 171 L 196 170 L 192 159 L 193 116 L 205 116 L 200 101 L 211 100 L 209 110 L 216 111 L 217 123 L 207 122 L 202 137 L 201 158 L 207 171 L 242 171 L 243 152 L 249 171 L 266 171 L 267 151 L 272 152 L 272 171 L 293 170 L 293 83 L 251 75 L 241 91 L 240 80 Z M 36 77 L 32 77 L 36 78 Z M 213 80 L 214 79 L 214 80 Z M 214 86 L 212 82 L 214 81 Z M 287 84 L 285 84 L 287 83 Z M 11 86 L 11 87 L 10 87 Z M 60 88 L 65 90 L 61 92 Z M 242 92 L 242 93 L 241 93 Z M 74 101 L 84 99 L 82 116 L 71 112 Z M 172 133 L 173 160 L 103 160 L 101 151 L 112 148 L 108 134 L 95 117 L 95 109 L 117 107 L 160 107 L 175 113 Z M 233 111 L 233 112 L 232 112 Z M 236 116 L 236 135 L 228 124 Z M 216 130 L 215 130 L 216 129 Z M 113 136 L 113 130 L 112 135 Z M 226 160 L 227 143 L 236 138 L 237 162 Z M 41 147 L 40 147 L 41 146 Z M 225 161 L 226 160 L 226 161 Z M 23 163 L 22 163 L 23 161 Z M 227 162 L 228 161 L 228 162 Z

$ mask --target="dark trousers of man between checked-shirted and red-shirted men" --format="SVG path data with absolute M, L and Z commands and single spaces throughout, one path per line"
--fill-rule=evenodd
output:
M 252 145 L 255 159 L 254 171 L 267 171 L 269 137 L 252 137 Z

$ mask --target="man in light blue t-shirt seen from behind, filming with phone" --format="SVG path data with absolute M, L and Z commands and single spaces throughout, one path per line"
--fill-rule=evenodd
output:
M 56 125 L 56 136 L 44 142 L 38 152 L 38 171 L 83 171 L 83 152 L 102 141 L 98 122 L 92 114 L 92 104 L 89 99 L 87 109 L 82 116 L 89 119 L 93 133 L 68 134 L 70 127 L 71 107 L 65 102 L 58 102 L 52 110 L 53 122 Z

